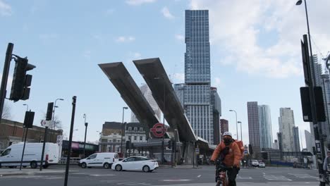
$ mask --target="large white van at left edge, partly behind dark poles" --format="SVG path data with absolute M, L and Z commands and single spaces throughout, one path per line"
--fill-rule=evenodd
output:
M 23 142 L 12 144 L 0 154 L 0 167 L 8 166 L 10 168 L 20 166 L 22 159 Z M 43 143 L 26 143 L 22 166 L 31 166 L 37 168 L 40 166 L 42 156 Z M 8 163 L 6 163 L 8 162 Z M 59 163 L 59 145 L 54 143 L 46 143 L 44 146 L 44 162 L 43 167 Z

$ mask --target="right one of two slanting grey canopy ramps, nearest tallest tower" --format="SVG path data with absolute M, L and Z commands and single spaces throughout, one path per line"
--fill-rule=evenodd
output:
M 198 138 L 185 116 L 185 112 L 159 58 L 147 58 L 133 62 L 145 82 L 147 82 L 149 89 L 151 89 L 152 96 L 164 113 L 167 123 L 171 128 L 178 129 L 180 140 L 196 142 Z

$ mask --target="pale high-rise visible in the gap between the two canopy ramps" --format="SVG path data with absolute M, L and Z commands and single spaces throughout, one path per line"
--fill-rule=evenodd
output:
M 140 90 L 142 94 L 145 96 L 145 99 L 147 99 L 148 103 L 152 107 L 152 110 L 154 110 L 154 113 L 156 113 L 156 116 L 160 119 L 161 118 L 161 110 L 159 109 L 159 106 L 157 102 L 154 100 L 154 97 L 152 97 L 152 92 L 149 89 L 148 85 L 142 85 L 140 87 Z M 140 121 L 138 118 L 136 118 L 135 114 L 131 112 L 130 114 L 130 122 L 132 123 L 139 123 Z

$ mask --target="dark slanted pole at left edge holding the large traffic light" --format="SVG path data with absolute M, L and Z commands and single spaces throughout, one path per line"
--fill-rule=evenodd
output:
M 0 89 L 0 123 L 2 119 L 2 111 L 4 110 L 4 99 L 6 98 L 6 87 L 8 81 L 9 68 L 11 66 L 12 54 L 13 54 L 13 44 L 8 43 L 6 58 L 4 62 L 4 72 L 2 73 L 1 89 Z

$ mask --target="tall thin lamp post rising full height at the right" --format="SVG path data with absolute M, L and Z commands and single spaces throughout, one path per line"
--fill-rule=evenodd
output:
M 313 54 L 312 54 L 312 43 L 311 43 L 311 39 L 310 39 L 310 23 L 308 20 L 308 13 L 307 13 L 307 4 L 306 4 L 306 0 L 304 0 L 305 3 L 305 13 L 306 13 L 306 20 L 307 20 L 307 34 L 308 34 L 308 42 L 310 42 L 310 58 L 313 58 Z M 297 3 L 295 5 L 300 5 L 302 4 L 302 0 L 297 1 Z M 325 185 L 324 182 L 324 177 L 323 177 L 323 159 L 325 158 L 325 153 L 324 153 L 324 142 L 323 140 L 320 140 L 319 137 L 319 133 L 321 133 L 321 125 L 319 122 L 317 122 L 317 111 L 316 111 L 316 104 L 315 104 L 315 95 L 314 95 L 314 85 L 315 83 L 315 73 L 314 73 L 314 61 L 312 60 L 309 64 L 310 66 L 310 70 L 312 71 L 311 74 L 309 74 L 312 78 L 312 80 L 310 81 L 310 85 L 308 85 L 309 87 L 309 92 L 310 92 L 310 101 L 311 101 L 311 109 L 312 109 L 312 121 L 313 121 L 313 125 L 314 125 L 314 139 L 315 139 L 315 146 L 317 147 L 317 163 L 318 163 L 318 167 L 319 167 L 319 181 L 320 181 L 320 185 Z

